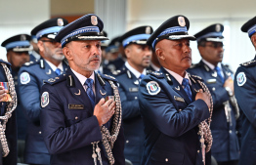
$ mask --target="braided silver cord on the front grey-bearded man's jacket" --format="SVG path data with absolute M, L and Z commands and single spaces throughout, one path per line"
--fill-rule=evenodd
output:
M 121 127 L 122 107 L 121 107 L 121 101 L 120 101 L 118 88 L 110 80 L 109 80 L 109 84 L 111 85 L 111 87 L 113 89 L 113 94 L 114 94 L 114 98 L 115 98 L 115 102 L 116 102 L 115 112 L 113 115 L 114 117 L 113 117 L 111 134 L 109 133 L 109 131 L 107 130 L 107 128 L 105 126 L 101 127 L 101 132 L 102 132 L 102 136 L 103 136 L 103 144 L 104 144 L 106 152 L 107 152 L 107 158 L 108 158 L 109 164 L 112 165 L 112 164 L 114 164 L 114 157 L 113 157 L 111 149 L 113 148 L 113 144 L 117 139 L 117 136 L 119 134 L 119 130 Z

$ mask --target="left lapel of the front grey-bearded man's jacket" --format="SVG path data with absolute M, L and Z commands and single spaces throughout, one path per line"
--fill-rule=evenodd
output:
M 92 107 L 92 104 L 90 103 L 90 100 L 82 84 L 80 83 L 78 78 L 74 75 L 74 73 L 70 70 L 70 68 L 66 70 L 66 78 L 68 79 L 67 83 L 72 81 L 71 84 L 70 83 L 67 84 L 67 86 L 69 87 L 69 90 L 71 91 L 72 97 L 75 100 L 78 100 L 81 103 L 84 103 L 85 109 L 88 109 L 89 113 L 93 115 L 94 107 Z

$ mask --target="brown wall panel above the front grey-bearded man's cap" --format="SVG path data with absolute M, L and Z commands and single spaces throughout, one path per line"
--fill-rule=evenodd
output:
M 94 13 L 94 0 L 51 0 L 51 16 Z

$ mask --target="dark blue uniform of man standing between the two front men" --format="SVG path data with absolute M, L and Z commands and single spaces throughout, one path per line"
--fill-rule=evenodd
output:
M 133 165 L 139 165 L 144 149 L 144 124 L 138 101 L 140 81 L 126 66 L 115 71 L 115 74 L 114 76 L 119 82 L 123 110 L 124 155 L 126 159 L 133 162 Z

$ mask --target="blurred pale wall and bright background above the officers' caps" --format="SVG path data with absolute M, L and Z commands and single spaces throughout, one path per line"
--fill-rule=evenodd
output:
M 0 0 L 0 43 L 21 34 L 30 34 L 33 27 L 54 17 L 73 21 L 94 13 L 105 22 L 109 39 L 140 25 L 156 29 L 175 15 L 191 21 L 190 34 L 212 23 L 225 25 L 224 63 L 235 71 L 239 63 L 251 61 L 255 50 L 241 25 L 256 16 L 253 0 Z M 199 62 L 196 42 L 192 45 L 192 62 Z M 0 47 L 0 58 L 6 50 Z

